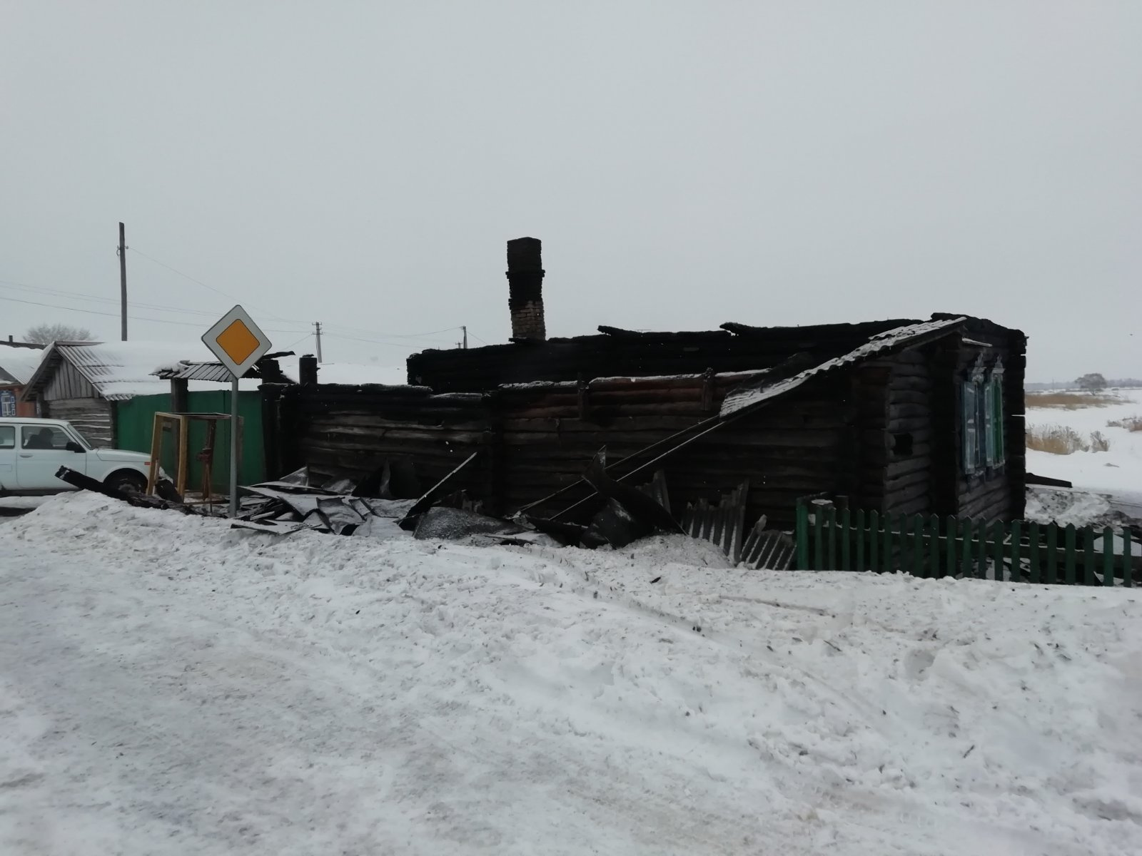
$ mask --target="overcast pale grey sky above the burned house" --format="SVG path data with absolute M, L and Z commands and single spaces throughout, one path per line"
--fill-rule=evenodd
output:
M 114 315 L 123 220 L 327 360 L 506 340 L 533 235 L 553 336 L 964 312 L 1030 380 L 1142 375 L 1136 0 L 0 10 L 5 336 L 118 338 L 15 300 Z M 232 305 L 132 251 L 132 301 L 206 315 L 131 338 Z

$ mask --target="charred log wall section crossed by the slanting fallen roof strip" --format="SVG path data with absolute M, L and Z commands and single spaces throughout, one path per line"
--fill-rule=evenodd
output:
M 500 506 L 514 511 L 573 485 L 604 445 L 608 461 L 614 463 L 678 431 L 697 429 L 716 417 L 725 394 L 748 377 L 613 379 L 499 390 Z M 771 522 L 791 525 L 798 498 L 835 493 L 847 476 L 854 410 L 836 398 L 845 388 L 839 375 L 813 381 L 718 427 L 629 481 L 650 481 L 661 469 L 676 510 L 699 498 L 716 500 L 748 481 L 750 518 L 765 514 Z M 614 475 L 629 473 L 654 454 L 617 467 Z M 589 492 L 580 484 L 532 510 L 553 514 Z M 584 512 L 592 509 L 582 507 Z

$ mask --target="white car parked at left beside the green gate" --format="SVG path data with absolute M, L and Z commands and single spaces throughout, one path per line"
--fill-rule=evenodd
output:
M 67 467 L 108 486 L 145 491 L 151 455 L 119 449 L 91 449 L 62 419 L 0 417 L 0 496 L 74 491 L 56 478 Z

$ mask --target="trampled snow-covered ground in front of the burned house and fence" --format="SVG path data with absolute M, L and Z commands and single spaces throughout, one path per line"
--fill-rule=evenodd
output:
M 722 564 L 53 499 L 0 853 L 1142 851 L 1142 593 Z

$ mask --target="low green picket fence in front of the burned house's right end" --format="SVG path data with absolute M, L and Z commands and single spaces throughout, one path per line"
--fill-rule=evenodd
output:
M 1132 587 L 1142 566 L 1125 528 L 882 515 L 803 501 L 795 534 L 803 571 Z

